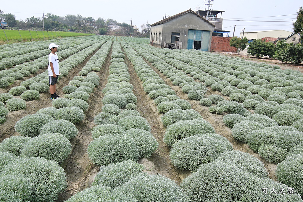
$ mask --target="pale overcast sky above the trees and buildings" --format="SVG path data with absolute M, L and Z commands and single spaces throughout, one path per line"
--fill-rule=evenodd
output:
M 114 0 L 114 1 L 93 1 L 93 0 L 61 0 L 61 1 L 41 1 L 23 0 L 2 1 L 0 9 L 5 13 L 12 13 L 16 19 L 26 20 L 32 16 L 42 17 L 42 13 L 51 12 L 54 15 L 65 16 L 68 14 L 81 14 L 83 17 L 112 18 L 120 23 L 137 25 L 141 30 L 141 25 L 153 24 L 163 19 L 165 15 L 175 15 L 191 8 L 196 11 L 205 9 L 208 0 Z M 240 36 L 241 30 L 261 31 L 284 29 L 293 31 L 292 22 L 295 21 L 297 12 L 303 2 L 300 0 L 214 0 L 211 4 L 213 10 L 225 11 L 222 13 L 223 30 L 231 31 L 233 34 L 236 25 L 235 35 Z M 285 15 L 285 16 L 281 16 Z M 268 17 L 277 16 L 277 17 Z M 219 16 L 220 17 L 220 16 Z M 241 20 L 241 21 L 235 21 Z M 248 22 L 259 21 L 259 22 Z M 262 21 L 262 22 L 260 22 Z M 273 22 L 265 22 L 273 21 Z M 283 22 L 285 21 L 285 22 Z

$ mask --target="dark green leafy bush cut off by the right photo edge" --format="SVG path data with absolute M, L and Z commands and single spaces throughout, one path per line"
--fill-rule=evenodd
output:
M 275 58 L 281 62 L 300 64 L 303 61 L 303 45 L 288 44 L 285 40 L 279 41 L 275 51 Z

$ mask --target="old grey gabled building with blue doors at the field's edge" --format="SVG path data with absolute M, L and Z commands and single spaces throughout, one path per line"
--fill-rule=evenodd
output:
M 151 25 L 150 44 L 159 48 L 210 51 L 215 25 L 191 9 Z

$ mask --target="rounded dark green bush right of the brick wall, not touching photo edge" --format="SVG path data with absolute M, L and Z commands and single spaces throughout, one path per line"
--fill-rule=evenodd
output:
M 249 55 L 255 55 L 257 58 L 268 56 L 270 58 L 275 55 L 275 44 L 262 41 L 261 39 L 254 39 L 250 42 L 247 53 Z

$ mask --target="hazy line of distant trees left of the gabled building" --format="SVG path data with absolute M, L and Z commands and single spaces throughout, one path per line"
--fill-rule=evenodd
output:
M 83 17 L 80 14 L 77 15 L 53 15 L 52 13 L 46 13 L 44 17 L 26 18 L 26 20 L 17 20 L 16 16 L 12 13 L 4 13 L 0 9 L 0 21 L 7 22 L 8 26 L 13 29 L 33 29 L 33 30 L 47 30 L 47 31 L 73 31 L 81 33 L 95 33 L 95 34 L 111 34 L 130 35 L 145 37 L 146 33 L 149 36 L 150 27 L 145 27 L 142 32 L 138 32 L 136 29 L 131 28 L 131 25 L 127 23 L 118 23 L 114 19 L 104 19 L 99 17 L 97 19 L 93 17 Z M 44 23 L 44 25 L 43 25 Z M 142 27 L 142 25 L 141 25 Z

